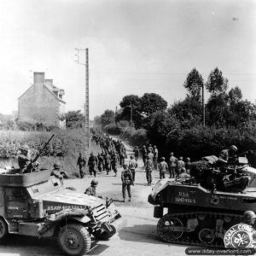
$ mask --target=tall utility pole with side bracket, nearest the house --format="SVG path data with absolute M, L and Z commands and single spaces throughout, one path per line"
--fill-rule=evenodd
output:
M 90 151 L 90 115 L 89 115 L 89 49 L 77 49 L 77 63 L 85 67 L 85 103 L 84 103 L 84 118 L 85 118 L 85 155 Z M 80 51 L 84 52 L 84 62 L 79 61 Z

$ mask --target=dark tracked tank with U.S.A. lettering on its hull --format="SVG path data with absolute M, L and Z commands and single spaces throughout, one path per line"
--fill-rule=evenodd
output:
M 191 176 L 160 180 L 148 202 L 160 218 L 160 239 L 193 246 L 224 247 L 227 230 L 242 222 L 243 213 L 256 211 L 256 169 L 246 157 L 218 168 L 216 156 L 192 163 Z

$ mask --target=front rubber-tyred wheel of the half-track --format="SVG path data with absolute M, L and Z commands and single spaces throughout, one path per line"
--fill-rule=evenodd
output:
M 58 244 L 63 253 L 77 256 L 88 253 L 90 250 L 90 234 L 80 224 L 67 224 L 61 228 L 58 235 Z

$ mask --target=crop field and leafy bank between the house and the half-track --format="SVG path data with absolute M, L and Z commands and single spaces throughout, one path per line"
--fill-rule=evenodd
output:
M 0 131 L 0 167 L 18 166 L 17 155 L 20 145 L 27 144 L 31 149 L 29 154 L 33 158 L 44 147 L 49 138 L 55 134 L 49 145 L 45 148 L 38 162 L 40 167 L 52 168 L 55 161 L 61 162 L 62 170 L 70 177 L 78 177 L 77 159 L 79 152 L 85 154 L 84 130 L 55 130 L 46 131 Z M 99 148 L 90 145 L 90 152 L 97 153 Z M 90 152 L 86 152 L 88 154 Z M 58 156 L 61 155 L 61 156 Z M 63 155 L 63 157 L 62 157 Z

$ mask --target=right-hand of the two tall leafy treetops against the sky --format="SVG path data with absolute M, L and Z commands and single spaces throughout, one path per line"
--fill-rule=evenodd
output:
M 207 90 L 212 95 L 224 93 L 228 88 L 228 82 L 228 79 L 224 79 L 222 72 L 216 67 L 207 79 Z

